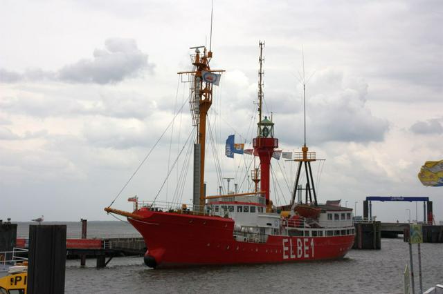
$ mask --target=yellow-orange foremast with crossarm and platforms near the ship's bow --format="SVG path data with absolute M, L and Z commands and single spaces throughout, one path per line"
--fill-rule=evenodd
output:
M 213 104 L 213 85 L 218 85 L 219 75 L 214 72 L 224 70 L 211 70 L 209 66 L 213 52 L 207 51 L 205 46 L 191 47 L 195 53 L 191 55 L 194 70 L 179 72 L 180 75 L 190 75 L 190 109 L 192 125 L 197 127 L 198 134 L 194 146 L 194 205 L 204 206 L 204 168 L 206 147 L 206 118 L 208 110 Z M 203 52 L 200 51 L 203 49 Z

